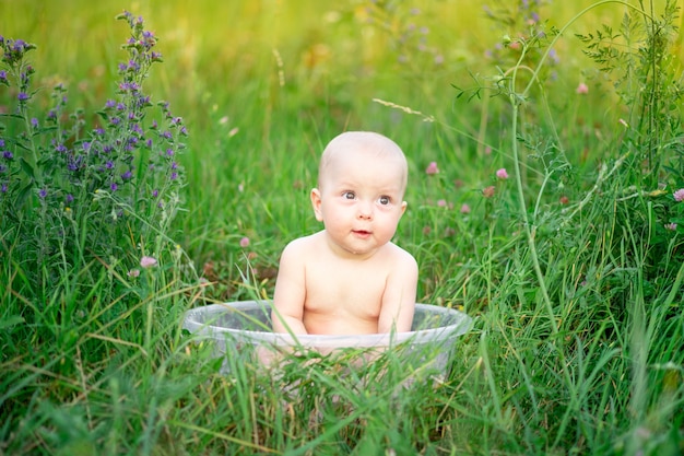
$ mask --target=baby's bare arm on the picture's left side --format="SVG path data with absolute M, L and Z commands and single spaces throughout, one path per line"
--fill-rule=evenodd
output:
M 281 255 L 271 312 L 273 332 L 307 334 L 303 321 L 306 282 L 304 253 L 300 250 L 299 243 L 295 241 L 290 243 Z

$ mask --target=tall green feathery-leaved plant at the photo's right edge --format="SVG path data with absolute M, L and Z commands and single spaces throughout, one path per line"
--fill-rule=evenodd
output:
M 645 281 L 670 287 L 669 274 L 679 270 L 684 222 L 684 129 L 682 128 L 681 65 L 672 51 L 677 46 L 680 8 L 668 0 L 628 8 L 620 27 L 603 25 L 577 35 L 585 54 L 611 81 L 624 106 L 617 120 L 624 133 L 616 162 L 627 187 L 620 201 L 622 219 L 649 233 L 650 249 Z M 648 289 L 647 289 L 648 290 Z

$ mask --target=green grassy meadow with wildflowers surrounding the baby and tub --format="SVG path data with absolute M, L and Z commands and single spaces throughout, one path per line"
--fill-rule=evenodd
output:
M 684 453 L 681 3 L 0 0 L 0 454 Z M 184 313 L 272 296 L 344 130 L 472 330 L 221 373 Z

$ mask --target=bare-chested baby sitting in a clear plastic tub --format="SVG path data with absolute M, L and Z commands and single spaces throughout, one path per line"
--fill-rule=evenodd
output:
M 282 253 L 274 332 L 411 330 L 418 268 L 391 242 L 406 210 L 406 178 L 403 152 L 381 135 L 351 131 L 330 141 L 310 194 L 323 230 Z

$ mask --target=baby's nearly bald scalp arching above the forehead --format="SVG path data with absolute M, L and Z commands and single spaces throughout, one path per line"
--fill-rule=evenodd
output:
M 328 143 L 318 167 L 318 187 L 326 186 L 326 179 L 340 163 L 367 160 L 380 160 L 396 169 L 403 196 L 409 175 L 406 157 L 394 141 L 372 131 L 346 131 Z

